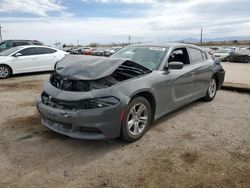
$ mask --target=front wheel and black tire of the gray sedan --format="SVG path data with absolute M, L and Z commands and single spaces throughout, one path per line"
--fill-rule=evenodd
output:
M 133 109 L 135 109 L 135 112 L 136 110 L 138 110 L 138 113 L 133 113 L 134 112 Z M 141 111 L 140 113 L 139 109 L 144 109 L 144 110 Z M 133 114 L 137 115 L 133 116 Z M 128 104 L 126 113 L 123 118 L 121 127 L 121 138 L 128 142 L 134 142 L 136 140 L 139 140 L 147 131 L 151 119 L 152 119 L 152 111 L 147 99 L 145 99 L 144 97 L 133 98 Z M 130 122 L 132 121 L 134 122 L 133 123 L 134 127 L 131 126 L 129 128 L 129 120 Z M 136 134 L 135 132 L 137 132 L 138 134 Z

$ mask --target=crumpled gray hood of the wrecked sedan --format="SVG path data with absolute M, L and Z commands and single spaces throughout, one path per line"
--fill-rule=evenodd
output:
M 111 75 L 123 63 L 137 63 L 127 59 L 113 59 L 106 57 L 67 55 L 58 62 L 56 72 L 72 80 L 97 80 Z M 147 69 L 143 67 L 143 69 Z M 148 69 L 149 70 L 149 69 Z

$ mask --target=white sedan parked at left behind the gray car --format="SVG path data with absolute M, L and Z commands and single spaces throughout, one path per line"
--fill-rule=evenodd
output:
M 0 78 L 12 74 L 51 71 L 67 52 L 47 46 L 18 46 L 0 53 Z

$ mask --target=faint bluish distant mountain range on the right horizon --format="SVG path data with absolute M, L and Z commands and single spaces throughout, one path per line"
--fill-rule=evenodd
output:
M 246 37 L 221 37 L 221 38 L 203 38 L 203 42 L 221 42 L 221 41 L 232 41 L 232 40 L 250 40 L 250 36 Z M 178 40 L 177 42 L 200 42 L 200 39 L 198 38 L 184 38 L 181 40 Z

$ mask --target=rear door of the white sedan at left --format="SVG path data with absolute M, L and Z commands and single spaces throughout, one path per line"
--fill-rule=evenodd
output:
M 37 47 L 37 61 L 39 70 L 53 70 L 58 58 L 56 50 L 47 47 Z

